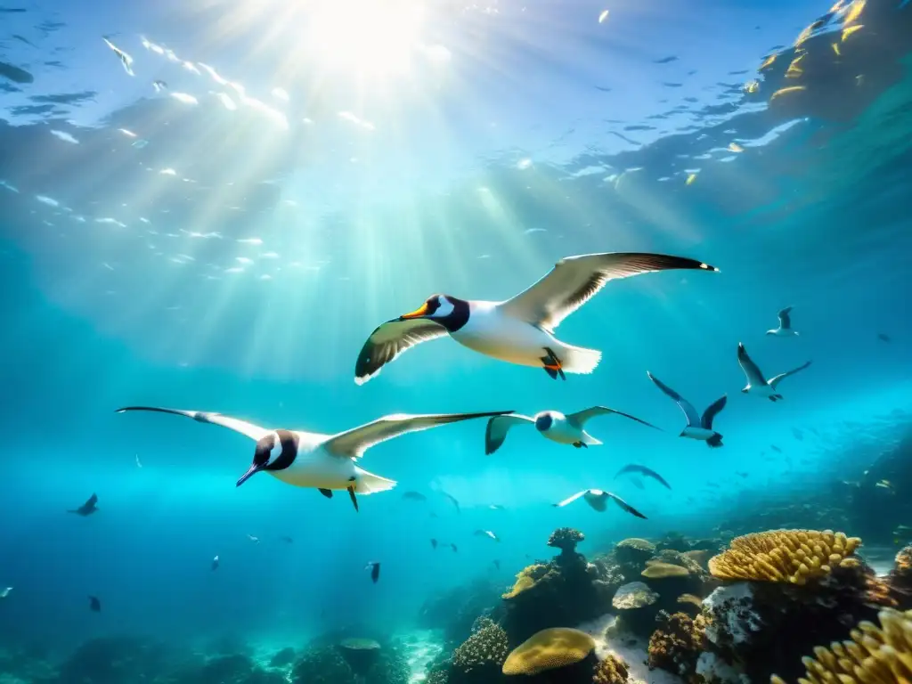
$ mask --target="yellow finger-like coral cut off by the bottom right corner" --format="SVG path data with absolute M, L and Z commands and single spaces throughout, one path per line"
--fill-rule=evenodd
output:
M 851 640 L 835 642 L 830 648 L 814 648 L 815 658 L 803 658 L 807 668 L 801 684 L 907 684 L 912 681 L 912 610 L 900 613 L 882 610 L 880 627 L 861 622 Z M 772 684 L 785 684 L 779 677 Z

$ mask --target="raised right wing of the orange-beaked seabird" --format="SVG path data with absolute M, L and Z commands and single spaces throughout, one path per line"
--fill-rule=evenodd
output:
M 538 282 L 503 302 L 503 313 L 553 331 L 609 280 L 674 268 L 718 271 L 695 259 L 666 254 L 614 252 L 561 259 Z

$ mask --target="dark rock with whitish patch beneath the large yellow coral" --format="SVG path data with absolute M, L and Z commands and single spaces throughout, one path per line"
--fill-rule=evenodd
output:
M 800 676 L 801 658 L 819 643 L 844 638 L 848 629 L 893 603 L 885 584 L 858 562 L 835 565 L 804 585 L 742 582 L 716 589 L 703 602 L 706 648 L 726 663 L 739 663 L 751 681 L 773 671 Z

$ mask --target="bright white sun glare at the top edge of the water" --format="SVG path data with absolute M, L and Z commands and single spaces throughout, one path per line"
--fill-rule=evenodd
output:
M 420 43 L 420 0 L 317 0 L 306 5 L 306 47 L 325 67 L 375 75 L 409 70 Z

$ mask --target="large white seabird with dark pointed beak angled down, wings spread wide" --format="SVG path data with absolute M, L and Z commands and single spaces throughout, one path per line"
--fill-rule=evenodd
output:
M 358 494 L 386 492 L 396 482 L 358 468 L 356 461 L 365 451 L 381 441 L 391 440 L 407 432 L 437 428 L 441 425 L 490 418 L 510 411 L 485 413 L 440 413 L 431 415 L 394 414 L 378 418 L 358 428 L 326 435 L 302 430 L 271 430 L 261 428 L 246 420 L 206 411 L 162 409 L 150 406 L 130 406 L 117 409 L 144 410 L 171 413 L 201 423 L 218 425 L 239 432 L 256 442 L 254 462 L 237 481 L 240 487 L 257 472 L 268 472 L 275 478 L 296 487 L 316 488 L 326 498 L 334 490 L 347 491 L 355 510 L 358 511 Z

